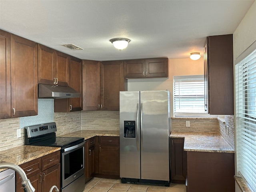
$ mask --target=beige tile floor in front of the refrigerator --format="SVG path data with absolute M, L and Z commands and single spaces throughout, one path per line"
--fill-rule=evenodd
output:
M 186 192 L 183 184 L 170 184 L 170 187 L 123 184 L 120 179 L 94 177 L 85 185 L 83 192 Z

